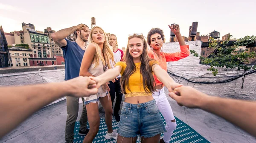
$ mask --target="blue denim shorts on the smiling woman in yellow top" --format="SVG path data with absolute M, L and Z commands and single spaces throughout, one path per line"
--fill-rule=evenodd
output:
M 146 103 L 123 103 L 119 129 L 122 137 L 154 137 L 166 132 L 155 100 Z

